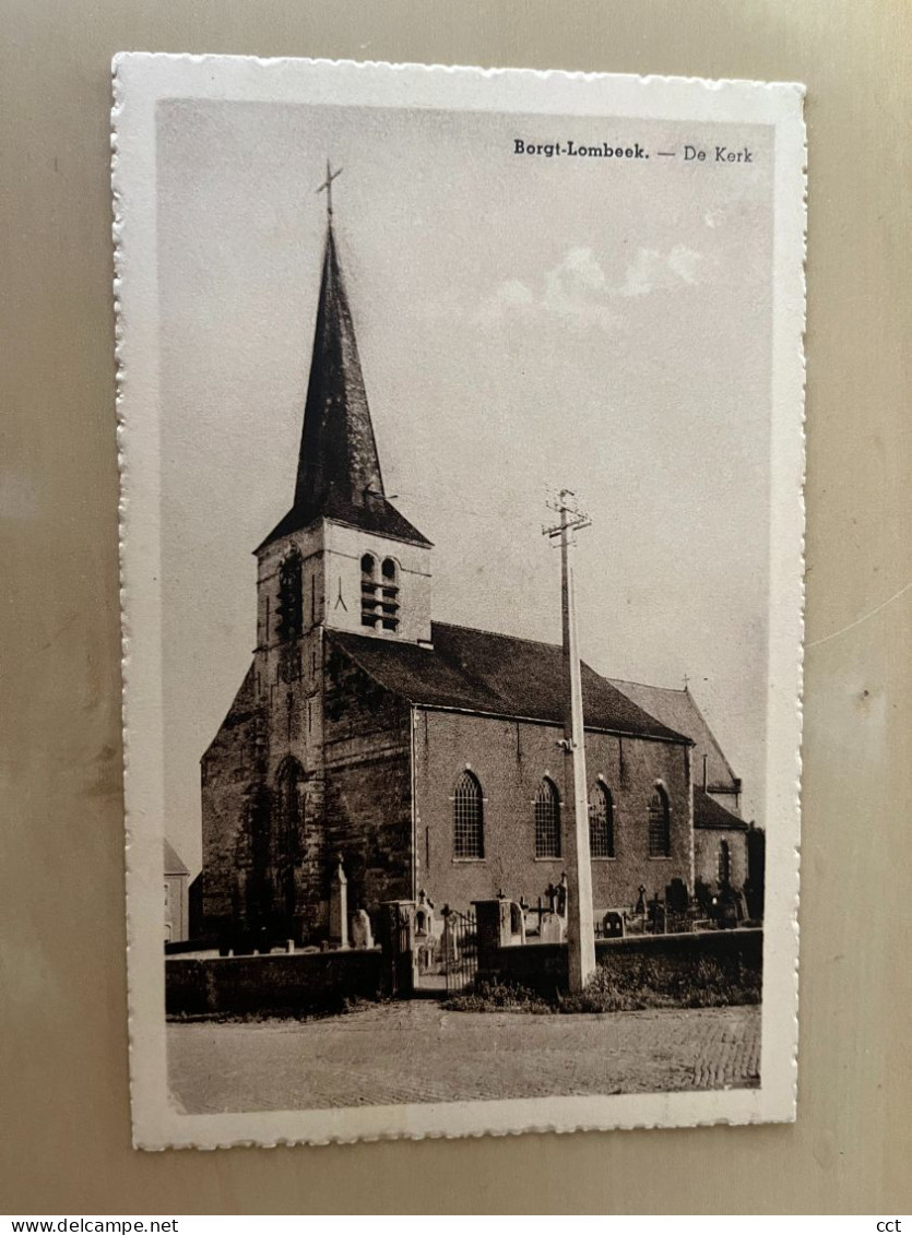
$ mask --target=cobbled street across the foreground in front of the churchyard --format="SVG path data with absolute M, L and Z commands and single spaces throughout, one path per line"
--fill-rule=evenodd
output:
M 760 1009 L 450 1013 L 431 1000 L 326 1020 L 168 1026 L 188 1114 L 759 1084 Z

